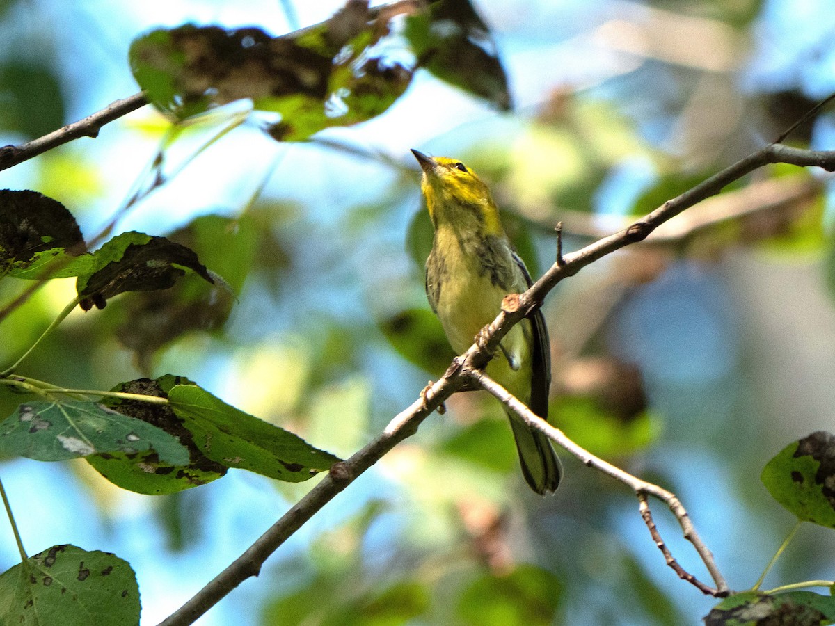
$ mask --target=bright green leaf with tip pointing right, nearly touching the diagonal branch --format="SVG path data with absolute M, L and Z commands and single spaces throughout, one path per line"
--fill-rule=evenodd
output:
M 230 406 L 195 385 L 177 385 L 170 406 L 206 457 L 286 482 L 301 482 L 339 462 L 301 437 Z

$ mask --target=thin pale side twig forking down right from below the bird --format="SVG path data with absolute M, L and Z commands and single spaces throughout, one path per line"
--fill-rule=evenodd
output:
M 498 382 L 493 381 L 493 379 L 487 376 L 483 371 L 464 369 L 463 376 L 467 376 L 469 380 L 473 381 L 485 391 L 488 391 L 488 393 L 496 397 L 498 401 L 504 404 L 504 406 L 507 406 L 511 411 L 514 411 L 516 415 L 521 417 L 524 422 L 529 425 L 529 427 L 536 428 L 539 432 L 542 432 L 546 437 L 559 444 L 560 447 L 563 447 L 565 450 L 573 454 L 574 457 L 579 458 L 584 465 L 594 467 L 596 470 L 599 470 L 600 472 L 603 472 L 608 476 L 615 478 L 615 480 L 623 482 L 625 485 L 629 486 L 638 497 L 640 515 L 643 517 L 646 527 L 650 529 L 650 535 L 652 536 L 653 541 L 655 541 L 655 545 L 658 546 L 661 553 L 664 554 L 667 565 L 673 568 L 680 578 L 693 584 L 702 593 L 706 593 L 707 595 L 721 598 L 730 593 L 730 588 L 728 588 L 725 578 L 722 577 L 719 568 L 716 567 L 716 561 L 713 558 L 713 554 L 707 548 L 705 543 L 701 541 L 699 533 L 696 533 L 696 528 L 693 526 L 690 516 L 687 514 L 685 507 L 681 506 L 681 502 L 679 502 L 676 494 L 668 492 L 666 489 L 659 487 L 658 485 L 654 485 L 651 482 L 641 480 L 629 472 L 625 472 L 620 469 L 620 467 L 616 467 L 610 462 L 605 462 L 600 457 L 595 457 L 594 454 L 585 448 L 579 447 L 568 437 L 565 437 L 564 432 L 560 431 L 558 428 L 554 428 L 548 422 L 545 422 L 541 417 L 535 415 L 534 412 L 525 406 L 522 401 L 519 401 L 518 398 L 511 395 L 508 390 L 499 385 Z M 714 583 L 716 583 L 716 588 L 707 586 L 691 573 L 686 572 L 685 569 L 679 565 L 676 559 L 673 558 L 670 549 L 667 548 L 664 540 L 660 536 L 658 528 L 655 526 L 655 522 L 652 519 L 652 513 L 650 512 L 650 505 L 647 501 L 647 496 L 658 498 L 670 508 L 673 515 L 676 516 L 679 526 L 681 526 L 684 537 L 687 541 L 693 544 L 693 547 L 696 548 L 696 553 L 699 554 L 702 563 L 705 563 L 707 571 L 711 574 L 711 578 L 713 578 Z

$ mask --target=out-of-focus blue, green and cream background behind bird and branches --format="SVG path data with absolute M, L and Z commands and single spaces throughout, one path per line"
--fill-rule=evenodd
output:
M 256 25 L 277 35 L 340 6 L 5 0 L 0 142 L 135 93 L 129 44 L 149 28 Z M 367 123 L 289 144 L 250 118 L 193 156 L 230 124 L 238 109 L 228 107 L 168 146 L 165 170 L 176 175 L 122 212 L 147 185 L 170 125 L 150 107 L 0 173 L 3 188 L 61 201 L 89 238 L 118 215 L 116 231 L 190 241 L 241 290 L 205 319 L 170 305 L 187 299 L 185 287 L 77 310 L 24 373 L 90 389 L 189 376 L 350 455 L 452 356 L 423 294 L 429 226 L 409 148 L 455 156 L 488 179 L 537 275 L 554 260 L 558 220 L 568 250 L 619 230 L 625 215 L 762 147 L 835 91 L 835 13 L 823 0 L 475 6 L 512 111 L 422 70 Z M 835 149 L 832 115 L 788 141 Z M 544 305 L 554 422 L 676 492 L 736 589 L 756 581 L 793 524 L 762 487 L 762 466 L 835 421 L 829 181 L 787 166 L 751 174 L 654 240 L 566 280 Z M 4 280 L 0 304 L 26 286 Z M 73 295 L 73 280 L 54 280 L 3 321 L 3 360 Z M 19 401 L 0 390 L 4 415 Z M 564 454 L 563 486 L 537 497 L 495 402 L 468 393 L 448 409 L 199 623 L 681 624 L 715 603 L 665 567 L 628 489 Z M 5 459 L 0 472 L 29 553 L 73 543 L 126 559 L 143 624 L 178 608 L 316 482 L 233 470 L 144 497 L 84 462 Z M 654 511 L 676 558 L 706 578 L 671 516 Z M 0 528 L 6 569 L 18 555 Z M 832 578 L 832 557 L 831 531 L 804 527 L 765 588 Z

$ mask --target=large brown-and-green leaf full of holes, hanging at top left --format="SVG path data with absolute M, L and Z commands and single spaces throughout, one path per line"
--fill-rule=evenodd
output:
M 381 114 L 407 88 L 411 71 L 377 45 L 390 36 L 389 13 L 369 23 L 367 3 L 353 0 L 329 22 L 277 38 L 261 28 L 154 30 L 134 40 L 131 68 L 151 100 L 178 119 L 250 98 L 256 109 L 281 114 L 272 137 L 306 139 Z

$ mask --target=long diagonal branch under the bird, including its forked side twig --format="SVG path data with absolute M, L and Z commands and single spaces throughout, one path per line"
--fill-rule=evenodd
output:
M 434 385 L 424 389 L 421 397 L 417 401 L 412 402 L 412 406 L 409 406 L 395 416 L 380 436 L 354 454 L 346 462 L 337 463 L 332 467 L 331 472 L 316 487 L 313 487 L 305 497 L 301 498 L 294 507 L 286 512 L 281 519 L 273 524 L 261 538 L 258 538 L 252 544 L 251 548 L 247 549 L 245 553 L 235 559 L 235 562 L 231 563 L 228 568 L 219 573 L 205 588 L 202 588 L 193 598 L 175 611 L 175 613 L 172 613 L 166 618 L 160 626 L 185 626 L 185 624 L 193 623 L 195 619 L 199 618 L 200 615 L 204 614 L 215 603 L 219 602 L 221 598 L 227 593 L 230 593 L 232 589 L 237 587 L 246 578 L 256 576 L 261 571 L 261 565 L 266 558 L 275 552 L 292 533 L 295 533 L 296 530 L 301 528 L 321 507 L 324 507 L 327 502 L 330 502 L 337 493 L 342 492 L 362 472 L 372 467 L 374 463 L 380 460 L 398 442 L 417 432 L 417 427 L 432 411 L 438 408 L 438 406 L 441 406 L 443 401 L 449 396 L 452 396 L 455 391 L 461 389 L 473 376 L 476 376 L 475 372 L 478 372 L 487 363 L 490 354 L 496 350 L 498 342 L 501 341 L 502 337 L 508 333 L 514 324 L 521 321 L 524 316 L 529 315 L 531 310 L 541 305 L 545 295 L 554 289 L 554 286 L 560 280 L 575 275 L 586 265 L 590 265 L 595 260 L 609 255 L 615 252 L 615 250 L 620 250 L 620 248 L 626 245 L 644 240 L 653 230 L 667 220 L 671 220 L 671 218 L 679 215 L 682 211 L 690 208 L 694 204 L 698 204 L 701 200 L 718 194 L 727 184 L 741 179 L 746 174 L 750 174 L 763 165 L 772 163 L 787 163 L 801 167 L 814 166 L 831 172 L 835 171 L 835 151 L 795 149 L 780 144 L 768 145 L 736 164 L 723 169 L 720 173 L 711 176 L 711 178 L 697 184 L 684 194 L 668 200 L 649 215 L 645 215 L 642 219 L 637 220 L 629 228 L 615 233 L 615 235 L 610 235 L 609 237 L 595 241 L 569 255 L 560 255 L 559 260 L 561 262 L 554 263 L 524 294 L 512 295 L 505 298 L 502 311 L 488 326 L 487 332 L 481 335 L 483 341 L 479 341 L 479 346 L 473 345 L 462 356 L 458 356 L 453 361 L 453 364 L 449 366 L 443 378 Z M 484 382 L 487 378 L 486 376 L 481 376 L 482 380 L 480 384 L 487 388 L 489 383 L 485 384 Z M 493 382 L 493 386 L 497 386 L 497 384 Z M 530 414 L 529 409 L 522 405 L 521 402 L 515 398 L 512 398 L 512 401 L 519 404 L 519 409 L 527 411 L 529 417 L 533 415 Z M 724 578 L 718 568 L 716 568 L 711 551 L 701 541 L 701 538 L 691 523 L 690 517 L 688 517 L 686 510 L 681 506 L 681 502 L 678 501 L 675 494 L 649 482 L 641 481 L 639 478 L 632 476 L 628 472 L 624 472 L 619 467 L 615 467 L 602 459 L 592 457 L 589 452 L 586 452 L 583 448 L 571 442 L 568 437 L 565 437 L 562 432 L 551 427 L 547 422 L 543 422 L 539 418 L 536 418 L 536 420 L 539 423 L 535 427 L 545 432 L 548 437 L 551 437 L 559 445 L 565 447 L 585 464 L 596 467 L 600 471 L 604 471 L 610 476 L 617 478 L 620 482 L 629 485 L 635 490 L 639 498 L 641 494 L 644 494 L 657 497 L 665 502 L 676 516 L 685 538 L 693 544 L 697 553 L 701 556 L 708 572 L 711 574 L 711 578 L 716 583 L 716 588 L 710 588 L 704 583 L 696 584 L 696 578 L 691 578 L 691 575 L 684 572 L 683 569 L 680 571 L 680 568 L 674 567 L 676 573 L 681 575 L 681 572 L 684 572 L 684 578 L 696 584 L 705 593 L 711 593 L 716 596 L 723 596 L 730 593 Z M 534 423 L 533 420 L 531 423 Z M 644 515 L 643 506 L 641 506 L 641 512 Z M 644 518 L 645 520 L 651 520 L 651 516 Z M 658 543 L 660 535 L 657 534 L 657 528 L 653 531 L 650 527 L 650 533 L 652 533 L 656 544 L 665 553 L 667 562 L 673 567 L 673 563 L 676 563 L 675 559 L 672 559 L 671 562 L 671 555 L 668 554 L 669 551 L 665 551 L 663 541 Z

